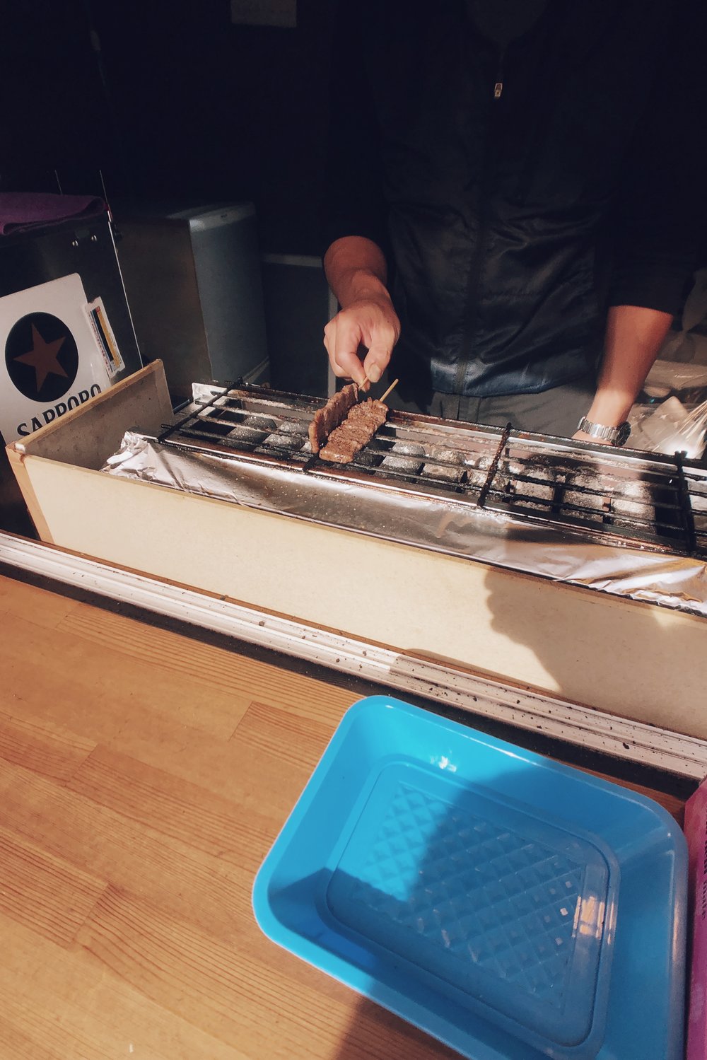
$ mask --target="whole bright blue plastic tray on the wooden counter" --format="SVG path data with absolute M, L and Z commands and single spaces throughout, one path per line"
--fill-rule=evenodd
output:
M 686 905 L 659 806 L 383 696 L 253 888 L 273 941 L 473 1060 L 678 1060 Z

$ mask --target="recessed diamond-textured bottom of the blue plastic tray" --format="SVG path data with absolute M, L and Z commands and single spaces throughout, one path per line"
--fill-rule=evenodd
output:
M 532 807 L 399 762 L 378 775 L 325 902 L 340 924 L 465 994 L 471 1010 L 551 1056 L 593 1056 L 613 862 L 595 837 Z

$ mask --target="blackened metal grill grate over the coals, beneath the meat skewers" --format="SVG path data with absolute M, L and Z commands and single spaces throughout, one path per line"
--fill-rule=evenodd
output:
M 320 405 L 259 387 L 197 386 L 158 441 L 373 488 L 393 484 L 612 544 L 707 559 L 707 471 L 692 461 L 391 412 L 352 463 L 326 464 L 307 440 Z

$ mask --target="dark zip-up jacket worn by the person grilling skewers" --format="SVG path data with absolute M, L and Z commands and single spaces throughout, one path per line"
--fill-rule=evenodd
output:
M 690 3 L 549 0 L 501 54 L 464 0 L 344 0 L 325 243 L 386 251 L 402 381 L 545 390 L 596 363 L 608 305 L 678 308 L 705 198 Z

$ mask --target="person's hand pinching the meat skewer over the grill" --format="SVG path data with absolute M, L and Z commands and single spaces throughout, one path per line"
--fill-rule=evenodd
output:
M 339 378 L 377 383 L 400 338 L 400 320 L 385 296 L 358 298 L 324 328 L 324 346 L 332 371 Z M 359 349 L 366 349 L 361 359 Z

